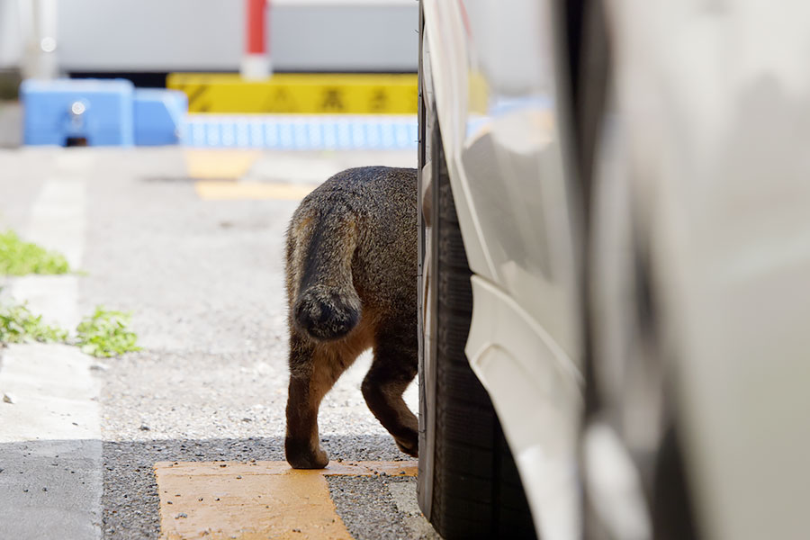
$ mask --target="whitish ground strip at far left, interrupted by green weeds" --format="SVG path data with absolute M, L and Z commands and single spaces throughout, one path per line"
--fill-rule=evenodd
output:
M 94 156 L 60 152 L 24 237 L 81 264 L 85 183 Z M 44 320 L 74 329 L 75 275 L 27 276 L 11 295 Z M 12 345 L 0 351 L 0 538 L 101 538 L 103 446 L 94 360 L 76 347 Z

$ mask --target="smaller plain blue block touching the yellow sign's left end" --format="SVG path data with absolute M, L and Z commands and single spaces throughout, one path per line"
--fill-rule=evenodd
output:
M 177 90 L 135 91 L 135 144 L 177 144 L 188 112 L 188 97 Z

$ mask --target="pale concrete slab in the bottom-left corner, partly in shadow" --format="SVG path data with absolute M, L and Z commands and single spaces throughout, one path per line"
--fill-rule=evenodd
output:
M 64 345 L 13 345 L 0 355 L 0 537 L 100 538 L 93 359 Z

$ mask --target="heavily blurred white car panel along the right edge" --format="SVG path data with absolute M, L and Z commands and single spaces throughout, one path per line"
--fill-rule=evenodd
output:
M 810 4 L 608 2 L 704 536 L 806 536 Z

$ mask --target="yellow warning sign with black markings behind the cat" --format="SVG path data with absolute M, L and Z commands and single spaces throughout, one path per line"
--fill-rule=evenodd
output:
M 415 74 L 279 74 L 253 81 L 172 73 L 166 86 L 188 95 L 190 112 L 415 114 L 419 103 Z

